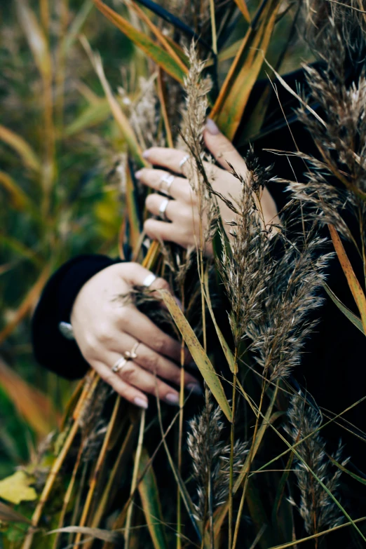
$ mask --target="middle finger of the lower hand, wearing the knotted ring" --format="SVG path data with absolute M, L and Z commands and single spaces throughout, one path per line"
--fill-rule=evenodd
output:
M 116 334 L 117 333 L 118 332 L 116 332 Z M 153 351 L 153 349 L 137 341 L 133 337 L 130 337 L 128 334 L 122 334 L 119 338 L 115 337 L 114 342 L 109 346 L 109 350 L 114 351 L 114 353 L 119 353 L 120 356 L 124 355 L 126 351 L 130 351 L 130 353 L 134 351 L 136 356 L 133 360 L 138 365 L 142 366 L 145 370 L 149 370 L 152 374 L 158 375 L 162 379 L 180 385 L 181 368 L 179 366 L 163 355 L 159 355 Z M 104 355 L 105 350 L 103 350 L 103 357 Z M 190 391 L 201 394 L 199 381 L 188 372 L 184 372 L 184 385 L 187 386 L 187 389 Z

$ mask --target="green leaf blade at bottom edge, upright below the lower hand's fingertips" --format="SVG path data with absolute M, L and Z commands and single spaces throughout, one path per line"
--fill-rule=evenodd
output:
M 140 459 L 140 475 L 144 472 L 144 468 L 146 468 L 148 461 L 149 455 L 147 454 L 147 451 L 143 449 Z M 156 484 L 156 477 L 152 465 L 147 469 L 138 489 L 154 548 L 168 548 L 163 527 L 163 515 L 161 513 L 158 486 Z

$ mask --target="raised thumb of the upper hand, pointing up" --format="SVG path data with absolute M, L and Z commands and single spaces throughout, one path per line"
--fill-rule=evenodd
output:
M 217 162 L 222 165 L 222 168 L 230 170 L 229 164 L 231 164 L 236 172 L 245 177 L 248 170 L 244 158 L 240 156 L 231 141 L 220 132 L 211 118 L 208 118 L 206 122 L 203 138 L 206 147 Z

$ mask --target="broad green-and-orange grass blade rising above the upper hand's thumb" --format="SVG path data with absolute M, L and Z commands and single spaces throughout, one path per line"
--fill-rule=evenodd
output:
M 250 92 L 262 68 L 279 6 L 279 0 L 269 0 L 259 27 L 248 29 L 210 114 L 230 140 L 238 129 Z

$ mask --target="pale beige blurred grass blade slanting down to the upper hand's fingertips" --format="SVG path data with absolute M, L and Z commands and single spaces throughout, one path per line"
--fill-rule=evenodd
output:
M 85 36 L 81 37 L 81 43 L 83 44 L 83 47 L 89 56 L 90 62 L 92 63 L 95 72 L 100 79 L 100 83 L 102 84 L 104 93 L 107 97 L 111 113 L 113 114 L 114 120 L 116 121 L 118 128 L 121 130 L 121 133 L 126 140 L 126 143 L 128 144 L 128 148 L 130 149 L 131 154 L 135 158 L 135 161 L 137 162 L 137 165 L 139 165 L 139 167 L 147 165 L 147 162 L 144 161 L 144 158 L 142 158 L 142 150 L 137 142 L 135 132 L 133 131 L 133 128 L 131 127 L 127 116 L 123 113 L 120 105 L 118 104 L 116 97 L 114 97 L 109 83 L 105 77 L 100 55 L 97 53 L 93 53 Z

